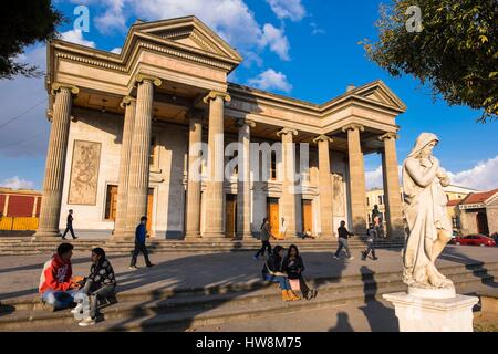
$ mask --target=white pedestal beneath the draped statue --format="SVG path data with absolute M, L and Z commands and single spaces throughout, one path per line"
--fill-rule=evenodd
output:
M 476 296 L 447 296 L 447 290 L 426 290 L 417 294 L 396 292 L 383 298 L 394 304 L 401 332 L 473 332 Z M 433 292 L 433 298 L 426 298 Z M 424 293 L 422 295 L 422 293 Z M 445 295 L 446 293 L 446 295 Z M 437 299 L 438 298 L 438 299 Z

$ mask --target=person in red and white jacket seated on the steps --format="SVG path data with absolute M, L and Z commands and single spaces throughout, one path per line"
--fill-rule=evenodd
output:
M 39 292 L 42 301 L 53 306 L 54 310 L 70 308 L 74 302 L 74 295 L 81 288 L 79 283 L 71 279 L 73 274 L 72 256 L 73 246 L 61 243 L 58 247 L 58 252 L 43 266 Z

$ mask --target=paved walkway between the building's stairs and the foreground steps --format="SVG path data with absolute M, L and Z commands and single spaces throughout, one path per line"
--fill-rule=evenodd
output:
M 360 274 L 361 268 L 367 266 L 374 272 L 400 271 L 401 252 L 378 250 L 380 260 L 362 261 L 356 251 L 355 259 L 334 260 L 332 252 L 303 252 L 308 278 L 332 278 Z M 245 283 L 260 280 L 263 260 L 255 261 L 252 253 L 211 253 L 211 254 L 152 254 L 156 264 L 151 269 L 144 267 L 142 256 L 138 258 L 137 271 L 128 270 L 129 257 L 110 258 L 115 269 L 120 291 L 145 292 L 149 290 L 188 289 L 206 285 Z M 342 256 L 344 257 L 344 256 Z M 90 269 L 90 254 L 73 256 L 73 273 L 86 275 Z M 3 256 L 0 257 L 0 301 L 23 296 L 33 296 L 38 291 L 40 272 L 46 256 Z M 498 248 L 448 246 L 438 260 L 440 267 L 469 262 L 497 262 Z M 364 269 L 364 268 L 363 268 Z

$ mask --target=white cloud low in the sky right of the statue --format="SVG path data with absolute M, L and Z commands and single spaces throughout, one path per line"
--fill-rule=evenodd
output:
M 498 188 L 498 155 L 458 173 L 448 171 L 453 185 L 489 190 Z

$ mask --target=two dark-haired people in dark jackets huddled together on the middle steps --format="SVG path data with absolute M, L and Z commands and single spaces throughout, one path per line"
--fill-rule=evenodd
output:
M 303 271 L 304 262 L 295 244 L 289 247 L 287 256 L 283 247 L 276 246 L 264 262 L 262 277 L 266 281 L 279 283 L 283 301 L 301 300 L 295 291 L 301 291 L 304 299 L 311 300 L 318 292 L 307 285 Z

